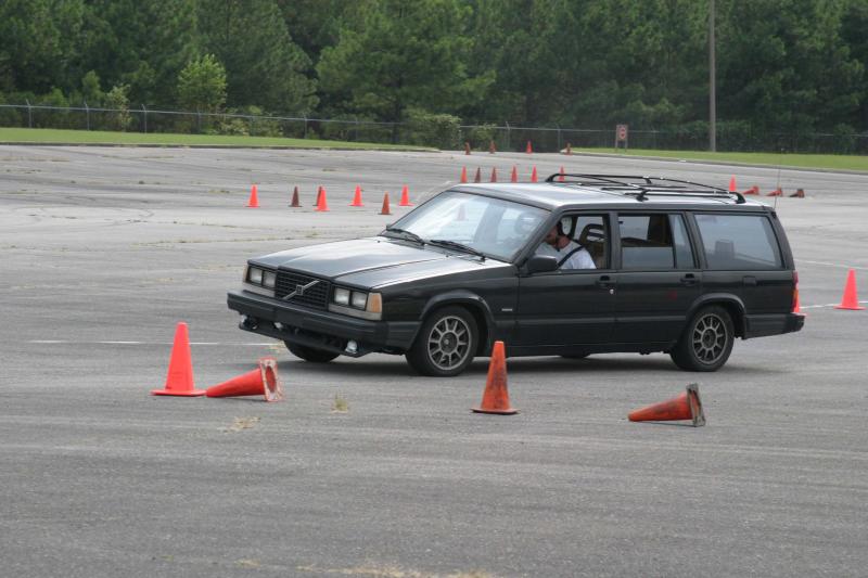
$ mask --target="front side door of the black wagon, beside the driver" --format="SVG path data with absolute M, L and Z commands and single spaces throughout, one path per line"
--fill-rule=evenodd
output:
M 609 216 L 599 211 L 573 216 L 574 240 L 587 229 L 600 232 L 593 240 L 585 240 L 598 268 L 558 269 L 520 278 L 516 346 L 557 348 L 611 338 L 616 277 L 610 265 Z

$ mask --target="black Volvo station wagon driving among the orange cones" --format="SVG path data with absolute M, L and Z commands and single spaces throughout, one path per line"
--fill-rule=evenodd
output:
M 240 327 L 297 357 L 404 355 L 461 373 L 509 357 L 664 351 L 715 371 L 736 337 L 802 329 L 799 275 L 775 211 L 665 178 L 558 174 L 461 184 L 369 239 L 247 262 Z

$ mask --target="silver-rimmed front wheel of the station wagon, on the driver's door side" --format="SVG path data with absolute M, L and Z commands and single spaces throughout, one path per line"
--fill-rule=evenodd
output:
M 470 365 L 478 345 L 476 320 L 463 307 L 444 307 L 422 323 L 407 362 L 422 375 L 451 377 Z

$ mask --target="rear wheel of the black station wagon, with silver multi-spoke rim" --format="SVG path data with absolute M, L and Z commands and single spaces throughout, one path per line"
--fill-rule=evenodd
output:
M 685 371 L 717 371 L 729 359 L 735 341 L 732 318 L 712 305 L 697 311 L 669 356 Z

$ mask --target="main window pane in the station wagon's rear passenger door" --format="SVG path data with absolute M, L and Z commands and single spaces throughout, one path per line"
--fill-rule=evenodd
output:
M 673 269 L 675 251 L 668 215 L 620 215 L 621 267 Z

